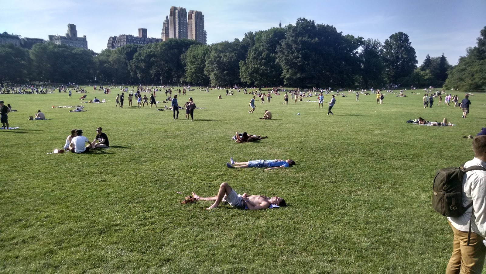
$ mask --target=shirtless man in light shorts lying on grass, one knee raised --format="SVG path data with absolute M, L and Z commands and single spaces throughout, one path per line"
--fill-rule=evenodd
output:
M 192 192 L 192 197 L 197 201 L 214 201 L 214 203 L 206 208 L 207 210 L 218 207 L 221 201 L 226 201 L 232 207 L 240 207 L 244 209 L 267 209 L 276 206 L 287 206 L 285 200 L 280 197 L 266 197 L 262 195 L 247 195 L 246 193 L 237 194 L 228 183 L 222 183 L 219 186 L 218 195 L 214 197 L 199 197 Z

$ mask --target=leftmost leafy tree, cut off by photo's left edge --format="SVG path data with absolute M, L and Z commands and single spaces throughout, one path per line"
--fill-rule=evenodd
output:
M 0 45 L 0 86 L 25 83 L 30 78 L 29 51 L 13 44 Z

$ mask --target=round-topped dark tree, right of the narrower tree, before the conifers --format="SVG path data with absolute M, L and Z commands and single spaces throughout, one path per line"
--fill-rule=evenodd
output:
M 417 55 L 411 44 L 403 32 L 392 34 L 385 40 L 385 72 L 389 83 L 397 84 L 400 78 L 409 76 L 416 69 Z

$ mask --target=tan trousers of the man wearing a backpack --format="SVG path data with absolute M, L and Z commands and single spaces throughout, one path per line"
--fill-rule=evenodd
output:
M 486 256 L 485 238 L 471 232 L 468 246 L 468 232 L 455 229 L 451 222 L 449 225 L 454 232 L 454 240 L 446 274 L 481 274 Z

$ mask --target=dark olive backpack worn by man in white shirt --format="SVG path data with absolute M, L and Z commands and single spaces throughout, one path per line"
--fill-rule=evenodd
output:
M 471 207 L 472 202 L 467 206 L 462 205 L 462 178 L 465 173 L 471 170 L 486 171 L 484 167 L 479 165 L 469 166 L 468 168 L 463 166 L 446 167 L 435 172 L 432 207 L 443 216 L 459 217 Z

